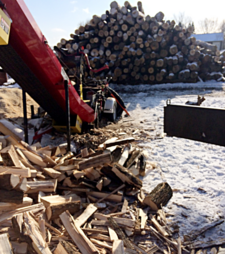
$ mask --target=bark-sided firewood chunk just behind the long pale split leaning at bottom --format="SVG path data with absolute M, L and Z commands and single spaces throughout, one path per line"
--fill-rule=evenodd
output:
M 46 215 L 48 220 L 55 220 L 59 215 L 65 211 L 74 214 L 80 211 L 80 202 L 67 202 L 64 204 L 54 204 L 46 208 Z

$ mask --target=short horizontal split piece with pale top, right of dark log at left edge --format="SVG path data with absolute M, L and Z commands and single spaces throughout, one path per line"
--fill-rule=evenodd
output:
M 54 181 L 36 181 L 27 182 L 29 189 L 26 193 L 37 193 L 39 191 L 43 192 L 55 192 L 57 187 L 57 180 Z

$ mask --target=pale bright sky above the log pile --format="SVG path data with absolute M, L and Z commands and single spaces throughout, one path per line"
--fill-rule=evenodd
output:
M 79 1 L 79 0 L 24 0 L 34 16 L 42 33 L 51 46 L 56 45 L 61 38 L 69 39 L 70 34 L 80 24 L 85 24 L 94 14 L 101 16 L 110 9 L 111 1 Z M 129 1 L 136 6 L 137 1 Z M 118 1 L 123 5 L 124 1 Z M 166 19 L 173 19 L 174 15 L 185 13 L 196 24 L 204 18 L 225 20 L 225 1 L 214 0 L 213 4 L 202 0 L 143 0 L 146 14 L 154 16 L 162 11 Z

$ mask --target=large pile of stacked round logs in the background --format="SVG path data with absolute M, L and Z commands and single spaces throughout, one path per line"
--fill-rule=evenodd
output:
M 124 6 L 113 1 L 109 11 L 94 15 L 70 40 L 61 39 L 57 55 L 74 75 L 71 61 L 83 48 L 93 69 L 109 66 L 101 74 L 86 69 L 85 77 L 112 76 L 118 84 L 224 80 L 225 53 L 196 41 L 193 32 L 192 25 L 183 28 L 174 20 L 165 21 L 162 12 L 146 15 L 141 2 L 136 7 L 128 1 Z

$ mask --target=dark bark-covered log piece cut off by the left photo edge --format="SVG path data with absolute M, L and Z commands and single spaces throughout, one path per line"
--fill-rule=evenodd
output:
M 24 196 L 24 193 L 22 191 L 0 190 L 0 202 L 22 204 L 23 196 Z

